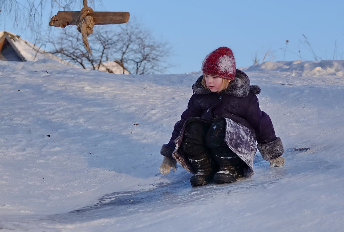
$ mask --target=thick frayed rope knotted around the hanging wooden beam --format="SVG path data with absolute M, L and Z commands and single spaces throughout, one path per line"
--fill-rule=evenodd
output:
M 92 51 L 89 48 L 89 43 L 87 40 L 87 36 L 93 34 L 93 27 L 94 27 L 94 19 L 92 16 L 87 15 L 88 13 L 92 13 L 93 9 L 87 6 L 87 0 L 84 0 L 84 8 L 80 11 L 80 23 L 76 27 L 78 31 L 82 34 L 84 46 L 87 49 L 88 53 L 92 56 Z

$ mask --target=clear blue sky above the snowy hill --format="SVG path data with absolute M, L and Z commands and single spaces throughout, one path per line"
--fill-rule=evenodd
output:
M 82 0 L 79 1 L 82 5 Z M 173 46 L 170 62 L 175 66 L 166 74 L 199 71 L 204 57 L 220 46 L 233 50 L 237 67 L 251 66 L 256 54 L 262 61 L 267 51 L 275 58 L 267 57 L 265 61 L 279 61 L 283 57 L 300 60 L 300 55 L 302 60 L 314 60 L 302 34 L 321 59 L 344 58 L 344 3 L 340 0 L 103 0 L 102 3 L 96 1 L 93 9 L 129 12 L 157 39 Z M 46 17 L 49 21 L 51 15 Z M 1 23 L 0 26 L 3 27 Z M 23 34 L 19 29 L 6 27 L 6 30 Z M 30 35 L 24 35 L 23 38 L 30 39 Z

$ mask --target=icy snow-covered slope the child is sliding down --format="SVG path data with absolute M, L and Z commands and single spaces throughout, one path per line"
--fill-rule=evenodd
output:
M 159 151 L 199 73 L 0 61 L 1 231 L 341 231 L 344 77 L 333 62 L 245 69 L 286 165 L 257 153 L 253 177 L 191 187 L 180 166 L 158 172 Z

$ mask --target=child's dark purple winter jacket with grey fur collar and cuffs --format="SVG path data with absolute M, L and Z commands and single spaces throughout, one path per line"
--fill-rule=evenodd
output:
M 249 129 L 254 140 L 258 142 L 257 148 L 263 159 L 271 160 L 281 156 L 284 152 L 283 144 L 276 137 L 271 119 L 268 114 L 261 111 L 256 94 L 260 93 L 258 85 L 250 85 L 246 73 L 236 70 L 235 78 L 228 88 L 221 93 L 213 93 L 201 85 L 203 76 L 199 77 L 192 89 L 194 94 L 189 100 L 186 111 L 178 121 L 172 132 L 168 144 L 164 144 L 160 153 L 169 158 L 176 159 L 188 171 L 190 165 L 180 149 L 175 151 L 175 145 L 180 145 L 182 134 L 187 123 L 192 120 L 213 122 L 216 118 L 228 118 Z M 179 146 L 177 146 L 179 147 Z M 172 156 L 172 153 L 174 155 Z M 252 165 L 253 159 L 248 162 Z M 253 174 L 253 169 L 251 174 Z M 251 175 L 250 174 L 250 175 Z

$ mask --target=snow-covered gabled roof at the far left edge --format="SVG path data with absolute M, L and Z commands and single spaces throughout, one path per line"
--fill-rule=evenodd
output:
M 29 41 L 22 39 L 18 35 L 7 31 L 0 31 L 0 60 L 36 61 L 44 58 L 57 60 L 67 66 L 75 66 Z

